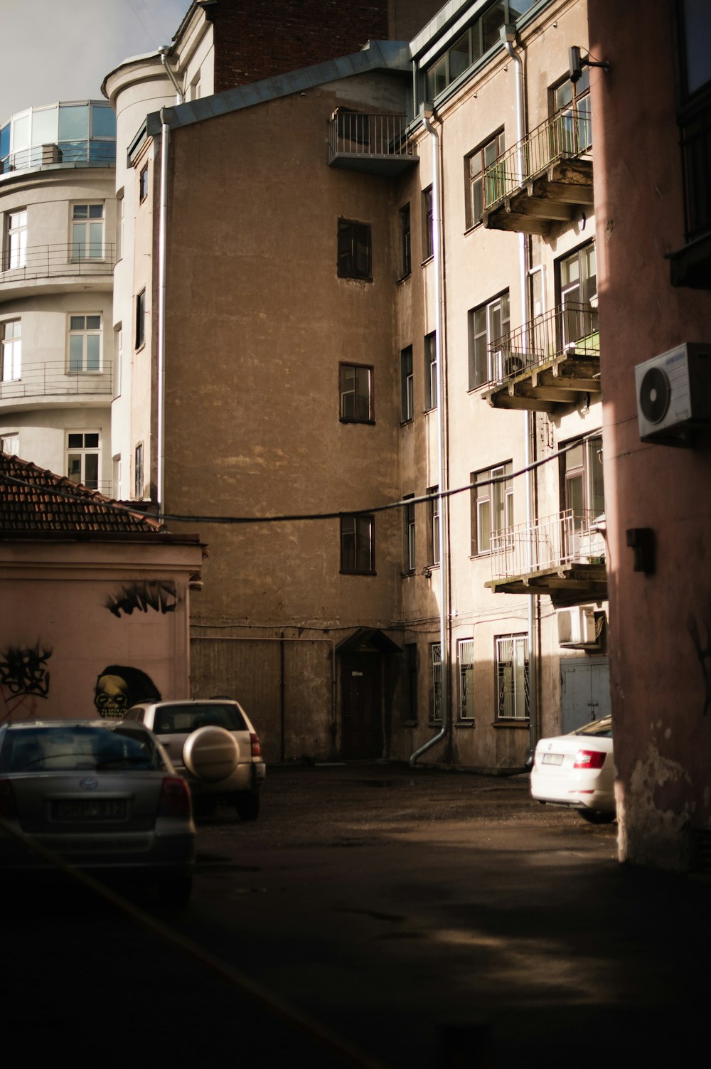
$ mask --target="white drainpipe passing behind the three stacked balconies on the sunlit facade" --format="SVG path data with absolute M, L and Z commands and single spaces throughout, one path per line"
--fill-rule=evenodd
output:
M 516 40 L 516 28 L 513 25 L 506 25 L 501 27 L 501 41 L 504 47 L 506 48 L 509 57 L 511 58 L 516 78 L 516 143 L 519 145 L 519 151 L 516 153 L 516 170 L 519 172 L 519 182 L 523 184 L 524 181 L 524 154 L 523 154 L 523 139 L 524 133 L 524 112 L 525 112 L 525 97 L 524 97 L 524 76 L 523 76 L 523 62 L 521 57 L 513 50 L 513 45 Z M 526 235 L 524 233 L 519 234 L 519 284 L 521 288 L 521 310 L 523 323 L 528 322 L 528 254 L 526 249 Z M 522 335 L 523 351 L 527 352 L 528 339 L 526 336 L 526 330 Z M 524 416 L 524 464 L 526 467 L 526 530 L 529 532 L 526 539 L 526 567 L 530 573 L 532 567 L 531 559 L 531 539 L 530 532 L 532 530 L 532 474 L 530 470 L 531 464 L 531 432 L 534 429 L 534 421 L 531 419 L 531 414 L 528 408 L 526 408 Z M 536 748 L 536 742 L 538 738 L 537 730 L 537 717 L 538 717 L 538 684 L 537 684 L 537 657 L 536 657 L 536 602 L 535 594 L 528 594 L 528 735 L 529 745 L 531 750 Z

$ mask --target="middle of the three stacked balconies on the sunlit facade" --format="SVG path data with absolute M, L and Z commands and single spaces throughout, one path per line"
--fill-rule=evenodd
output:
M 489 345 L 488 388 L 494 408 L 547 412 L 596 400 L 600 390 L 598 312 L 568 301 Z

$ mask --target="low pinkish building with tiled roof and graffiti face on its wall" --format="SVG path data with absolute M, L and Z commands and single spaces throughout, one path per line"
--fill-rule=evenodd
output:
M 0 723 L 188 697 L 204 546 L 0 453 Z

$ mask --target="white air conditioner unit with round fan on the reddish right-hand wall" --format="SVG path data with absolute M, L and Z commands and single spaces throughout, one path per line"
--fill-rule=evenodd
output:
M 638 363 L 634 377 L 643 441 L 684 445 L 692 428 L 711 424 L 711 345 L 684 342 Z

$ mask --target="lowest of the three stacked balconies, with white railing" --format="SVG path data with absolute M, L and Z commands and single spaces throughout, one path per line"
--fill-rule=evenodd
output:
M 607 597 L 604 516 L 566 509 L 492 538 L 494 593 L 550 594 L 554 605 Z

